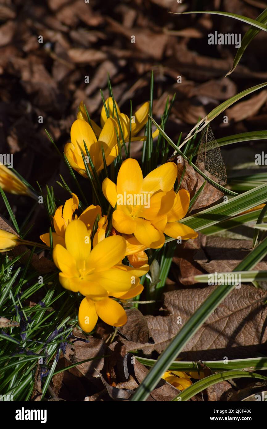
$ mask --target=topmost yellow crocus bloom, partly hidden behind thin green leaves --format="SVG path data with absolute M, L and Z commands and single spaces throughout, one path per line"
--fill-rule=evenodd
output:
M 131 141 L 142 141 L 142 140 L 146 140 L 145 136 L 141 136 L 141 137 L 135 137 L 137 133 L 139 133 L 139 131 L 141 131 L 142 128 L 144 128 L 144 125 L 147 123 L 147 119 L 148 119 L 148 110 L 149 110 L 149 102 L 147 101 L 146 103 L 144 103 L 133 115 L 132 115 L 132 120 L 125 115 L 124 113 L 120 112 L 120 108 L 117 105 L 117 102 L 115 100 L 115 106 L 117 107 L 117 113 L 118 113 L 118 117 L 120 120 L 120 125 L 123 131 L 123 139 L 125 142 L 129 141 L 129 136 L 130 136 L 130 121 L 132 122 L 131 124 Z M 116 122 L 116 127 L 117 127 L 117 132 L 118 135 L 120 136 L 120 142 L 122 142 L 122 136 L 121 136 L 121 132 L 120 132 L 120 127 L 119 127 L 119 123 L 118 123 L 118 119 L 117 119 L 117 114 L 113 105 L 113 100 L 111 97 L 108 97 L 108 99 L 105 101 L 105 105 L 107 110 L 109 111 L 109 117 L 110 118 L 114 118 L 114 121 Z M 101 111 L 101 127 L 103 128 L 106 121 L 107 121 L 107 114 L 106 114 L 106 110 L 105 110 L 105 106 L 102 107 L 102 111 Z M 153 138 L 158 136 L 159 131 L 156 130 L 153 133 Z

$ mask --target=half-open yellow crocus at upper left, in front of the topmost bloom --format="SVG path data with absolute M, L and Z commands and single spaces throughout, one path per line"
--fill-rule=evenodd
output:
M 115 126 L 116 122 L 114 119 L 109 118 L 97 139 L 92 127 L 90 127 L 87 121 L 76 119 L 70 130 L 71 143 L 67 143 L 64 148 L 66 158 L 72 168 L 82 176 L 87 177 L 81 153 L 84 155 L 89 169 L 90 163 L 89 159 L 87 159 L 88 156 L 84 148 L 84 142 L 87 145 L 97 173 L 104 168 L 102 148 L 104 150 L 106 163 L 110 165 L 119 153 Z

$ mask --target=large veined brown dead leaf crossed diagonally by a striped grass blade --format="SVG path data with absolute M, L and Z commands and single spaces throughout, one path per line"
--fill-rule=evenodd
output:
M 145 354 L 161 353 L 180 331 L 186 320 L 216 288 L 179 289 L 164 294 L 165 316 L 147 316 L 147 325 L 155 344 L 123 341 L 126 351 L 141 349 Z M 187 342 L 179 357 L 185 360 L 223 360 L 248 358 L 263 349 L 267 340 L 263 301 L 267 292 L 242 285 L 234 289 Z M 180 319 L 181 318 L 181 319 Z

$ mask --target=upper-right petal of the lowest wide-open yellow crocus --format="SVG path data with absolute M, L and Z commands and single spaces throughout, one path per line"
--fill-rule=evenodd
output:
M 121 236 L 107 237 L 99 242 L 91 251 L 88 267 L 96 272 L 108 270 L 123 260 L 126 251 L 126 241 Z

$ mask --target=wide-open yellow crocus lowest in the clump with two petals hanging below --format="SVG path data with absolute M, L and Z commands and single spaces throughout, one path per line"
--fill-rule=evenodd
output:
M 65 232 L 66 248 L 57 244 L 53 259 L 60 269 L 60 284 L 73 292 L 86 296 L 79 310 L 82 329 L 90 332 L 98 314 L 106 323 L 121 326 L 126 321 L 123 308 L 108 296 L 126 294 L 139 284 L 134 269 L 120 267 L 126 251 L 126 241 L 121 236 L 111 236 L 91 250 L 90 232 L 84 222 L 76 219 Z M 103 301 L 101 303 L 101 301 Z M 89 319 L 84 319 L 85 313 Z

